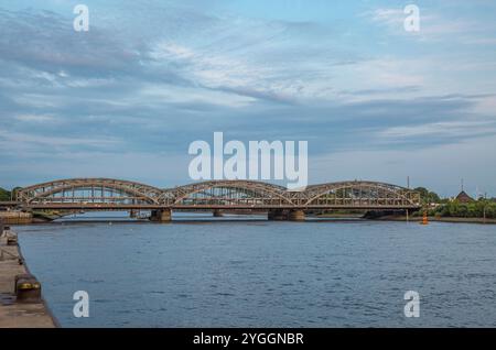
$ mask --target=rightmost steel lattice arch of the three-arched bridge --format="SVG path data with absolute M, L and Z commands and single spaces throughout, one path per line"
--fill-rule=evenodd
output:
M 417 208 L 420 195 L 409 188 L 378 182 L 338 182 L 309 186 L 305 206 Z

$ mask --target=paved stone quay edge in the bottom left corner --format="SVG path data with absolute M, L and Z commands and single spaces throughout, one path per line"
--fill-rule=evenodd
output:
M 15 276 L 29 273 L 18 244 L 8 245 L 0 237 L 0 328 L 54 328 L 56 320 L 43 299 L 21 303 L 17 300 Z

